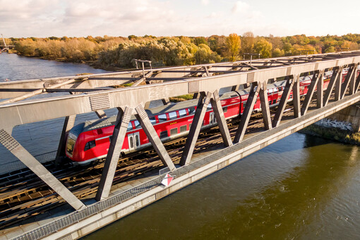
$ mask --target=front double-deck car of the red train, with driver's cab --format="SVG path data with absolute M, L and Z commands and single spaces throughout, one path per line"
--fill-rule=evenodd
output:
M 240 97 L 228 92 L 220 98 L 226 119 L 239 116 Z M 190 100 L 167 106 L 145 109 L 150 122 L 162 141 L 188 134 L 198 100 Z M 114 131 L 116 116 L 95 121 L 85 121 L 71 128 L 66 142 L 66 156 L 78 164 L 87 164 L 106 157 Z M 216 119 L 211 104 L 205 113 L 203 128 L 214 126 Z M 128 124 L 121 153 L 132 152 L 150 146 L 148 137 L 133 116 Z

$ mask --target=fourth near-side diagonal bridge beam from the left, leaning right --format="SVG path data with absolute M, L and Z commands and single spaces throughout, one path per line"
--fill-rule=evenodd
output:
M 186 139 L 184 152 L 181 155 L 180 164 L 183 166 L 188 164 L 193 156 L 193 150 L 196 145 L 196 140 L 198 140 L 201 126 L 203 125 L 204 116 L 210 102 L 211 95 L 211 92 L 208 92 L 206 95 L 205 92 L 200 93 L 198 107 L 196 107 L 193 122 L 191 124 L 190 131 L 188 132 L 188 138 Z

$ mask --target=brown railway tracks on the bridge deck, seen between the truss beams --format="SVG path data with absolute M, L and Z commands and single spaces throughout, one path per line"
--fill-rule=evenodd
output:
M 311 104 L 311 107 L 314 105 L 316 106 L 316 103 Z M 287 106 L 282 119 L 291 119 L 293 115 L 292 108 Z M 232 138 L 235 136 L 238 121 L 238 119 L 233 119 L 228 122 Z M 263 127 L 261 114 L 253 114 L 246 133 L 255 133 L 263 130 Z M 174 164 L 179 163 L 185 142 L 186 136 L 164 143 Z M 215 148 L 220 144 L 222 144 L 222 138 L 218 127 L 208 128 L 200 133 L 194 154 Z M 83 200 L 95 196 L 104 162 L 88 166 L 85 169 L 70 165 L 66 165 L 64 169 L 57 169 L 52 164 L 47 164 L 46 167 L 76 197 Z M 128 179 L 160 169 L 160 167 L 163 167 L 163 164 L 152 148 L 130 153 L 119 160 L 113 186 L 116 187 Z M 10 176 L 0 176 L 0 179 L 4 180 L 0 184 L 0 229 L 5 229 L 16 222 L 47 212 L 65 203 L 57 193 L 54 193 L 30 170 Z

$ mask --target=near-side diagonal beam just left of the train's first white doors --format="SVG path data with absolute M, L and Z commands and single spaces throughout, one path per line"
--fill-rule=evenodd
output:
M 124 144 L 128 123 L 130 122 L 131 113 L 133 109 L 125 107 L 125 109 L 118 108 L 119 112 L 116 117 L 116 124 L 114 133 L 112 134 L 109 152 L 105 160 L 104 169 L 102 170 L 99 188 L 95 199 L 100 201 L 109 196 L 112 188 L 112 181 L 114 180 L 116 166 L 119 161 L 121 148 Z

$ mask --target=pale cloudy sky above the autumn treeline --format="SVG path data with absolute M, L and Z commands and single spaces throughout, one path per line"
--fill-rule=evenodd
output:
M 360 33 L 360 1 L 0 0 L 4 37 Z

